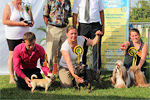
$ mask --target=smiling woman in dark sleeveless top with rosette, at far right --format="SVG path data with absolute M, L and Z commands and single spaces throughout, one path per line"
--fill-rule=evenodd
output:
M 144 71 L 142 66 L 145 64 L 148 46 L 140 38 L 138 29 L 131 29 L 130 37 L 131 41 L 123 43 L 120 48 L 125 51 L 124 66 L 129 69 L 130 66 L 136 65 Z

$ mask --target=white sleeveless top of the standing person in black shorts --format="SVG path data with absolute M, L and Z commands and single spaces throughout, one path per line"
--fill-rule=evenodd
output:
M 19 13 L 19 11 L 13 6 L 11 2 L 9 2 L 8 5 L 11 9 L 10 20 L 19 22 L 20 18 L 23 17 L 23 13 Z M 7 39 L 22 39 L 23 34 L 27 31 L 29 31 L 29 27 L 5 25 L 5 36 Z

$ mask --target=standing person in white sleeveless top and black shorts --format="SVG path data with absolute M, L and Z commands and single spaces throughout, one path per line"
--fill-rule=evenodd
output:
M 8 67 L 10 73 L 10 84 L 15 83 L 12 61 L 14 48 L 22 43 L 23 34 L 29 31 L 29 27 L 33 26 L 32 13 L 30 13 L 32 25 L 28 25 L 24 22 L 23 14 L 22 0 L 8 2 L 3 11 L 3 24 L 5 25 L 5 36 L 9 47 Z

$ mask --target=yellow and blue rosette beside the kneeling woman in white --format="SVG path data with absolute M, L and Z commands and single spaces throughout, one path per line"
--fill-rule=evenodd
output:
M 79 45 L 74 47 L 73 50 L 74 54 L 78 56 L 78 64 L 80 64 L 80 62 L 82 62 L 82 54 L 84 52 L 83 48 Z

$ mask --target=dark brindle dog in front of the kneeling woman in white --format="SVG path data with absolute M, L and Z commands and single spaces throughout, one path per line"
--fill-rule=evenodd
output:
M 94 80 L 101 83 L 100 73 L 96 72 L 94 69 L 88 69 L 87 65 L 79 64 L 79 65 L 75 66 L 74 73 L 84 79 L 83 84 L 85 85 L 85 87 L 88 86 L 89 93 L 91 92 L 91 84 Z M 76 81 L 76 86 L 77 86 L 78 90 L 80 91 L 81 84 L 79 84 Z

